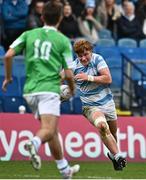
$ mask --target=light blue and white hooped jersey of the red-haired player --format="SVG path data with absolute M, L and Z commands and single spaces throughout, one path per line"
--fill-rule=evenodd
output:
M 105 60 L 99 54 L 92 53 L 92 58 L 88 66 L 83 66 L 77 58 L 73 62 L 72 69 L 74 75 L 84 72 L 88 75 L 98 76 L 99 71 L 107 68 Z M 97 84 L 89 81 L 76 81 L 83 106 L 102 106 L 113 101 L 113 95 L 106 84 Z

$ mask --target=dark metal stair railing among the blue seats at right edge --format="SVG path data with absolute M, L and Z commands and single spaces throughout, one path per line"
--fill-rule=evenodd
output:
M 144 115 L 146 106 L 146 72 L 137 63 L 122 54 L 121 109 Z M 146 63 L 146 60 L 145 60 Z

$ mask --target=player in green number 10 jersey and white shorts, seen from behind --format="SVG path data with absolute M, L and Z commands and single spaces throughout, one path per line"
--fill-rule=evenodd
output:
M 60 71 L 63 68 L 65 77 L 74 93 L 73 73 L 69 69 L 72 63 L 72 48 L 67 37 L 57 31 L 62 16 L 62 5 L 57 1 L 45 4 L 42 19 L 45 26 L 24 32 L 10 46 L 5 55 L 5 79 L 2 88 L 12 82 L 11 64 L 13 56 L 23 50 L 25 53 L 26 82 L 24 98 L 32 112 L 41 121 L 41 127 L 27 148 L 32 165 L 35 169 L 41 168 L 41 159 L 38 149 L 42 143 L 48 142 L 57 168 L 63 178 L 70 179 L 79 171 L 79 165 L 69 166 L 64 158 L 58 138 L 58 117 L 60 116 Z

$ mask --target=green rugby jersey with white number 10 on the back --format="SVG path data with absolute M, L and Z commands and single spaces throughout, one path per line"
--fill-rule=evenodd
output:
M 16 54 L 25 50 L 24 94 L 60 93 L 60 71 L 73 61 L 66 36 L 54 27 L 44 26 L 24 32 L 10 47 Z

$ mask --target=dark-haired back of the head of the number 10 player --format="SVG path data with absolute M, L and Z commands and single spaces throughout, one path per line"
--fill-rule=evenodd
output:
M 51 0 L 45 3 L 42 17 L 47 25 L 56 25 L 63 15 L 63 5 L 60 2 Z

